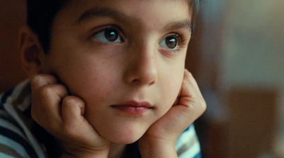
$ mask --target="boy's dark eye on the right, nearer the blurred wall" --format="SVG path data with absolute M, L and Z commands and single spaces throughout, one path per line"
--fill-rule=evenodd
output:
M 179 43 L 180 37 L 178 35 L 169 35 L 168 37 L 160 41 L 159 46 L 165 47 L 170 50 L 175 50 L 178 48 Z

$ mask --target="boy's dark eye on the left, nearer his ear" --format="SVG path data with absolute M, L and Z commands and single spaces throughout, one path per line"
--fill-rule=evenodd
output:
M 121 43 L 121 35 L 119 35 L 119 28 L 109 27 L 99 30 L 97 33 L 92 35 L 92 38 L 99 40 L 103 43 Z

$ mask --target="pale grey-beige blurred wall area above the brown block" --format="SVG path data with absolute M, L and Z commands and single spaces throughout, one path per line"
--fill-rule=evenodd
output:
M 283 8 L 281 0 L 229 0 L 221 74 L 226 89 L 234 84 L 284 89 Z

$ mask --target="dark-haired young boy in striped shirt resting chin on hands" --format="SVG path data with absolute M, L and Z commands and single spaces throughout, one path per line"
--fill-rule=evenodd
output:
M 1 95 L 0 157 L 200 157 L 206 106 L 184 68 L 197 4 L 28 0 L 30 80 Z

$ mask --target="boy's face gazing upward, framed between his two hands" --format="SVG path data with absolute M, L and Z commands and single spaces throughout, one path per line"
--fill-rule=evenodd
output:
M 84 100 L 100 135 L 134 142 L 178 96 L 189 20 L 187 1 L 70 1 L 55 17 L 42 70 Z

